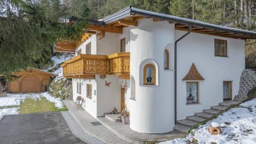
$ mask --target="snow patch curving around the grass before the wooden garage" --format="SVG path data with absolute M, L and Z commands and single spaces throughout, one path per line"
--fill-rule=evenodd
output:
M 25 99 L 40 99 L 45 97 L 50 102 L 54 103 L 56 108 L 64 108 L 63 102 L 60 98 L 52 97 L 49 93 L 15 93 L 8 94 L 6 97 L 0 97 L 0 120 L 4 115 L 17 115 L 19 113 L 19 107 L 8 108 L 10 106 L 20 106 L 20 102 Z M 6 107 L 6 108 L 4 108 Z

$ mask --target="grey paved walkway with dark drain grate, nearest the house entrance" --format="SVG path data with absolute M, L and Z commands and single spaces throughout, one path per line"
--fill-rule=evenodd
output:
M 68 111 L 72 116 L 77 120 L 78 124 L 81 125 L 83 130 L 90 134 L 91 136 L 103 141 L 108 144 L 128 144 L 127 141 L 118 138 L 116 134 L 109 131 L 104 125 L 100 124 L 93 116 L 87 113 L 84 110 L 77 111 L 74 108 L 74 101 L 72 100 L 63 100 L 65 106 L 67 106 Z

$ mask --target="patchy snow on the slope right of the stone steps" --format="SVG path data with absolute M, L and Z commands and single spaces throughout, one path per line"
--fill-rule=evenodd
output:
M 164 141 L 161 144 L 187 144 L 188 141 L 197 140 L 198 143 L 256 143 L 256 99 L 249 100 L 240 105 L 243 108 L 232 108 L 214 120 L 200 125 L 186 138 Z M 247 107 L 247 108 L 244 108 Z M 212 135 L 208 131 L 212 122 L 221 124 L 221 134 Z

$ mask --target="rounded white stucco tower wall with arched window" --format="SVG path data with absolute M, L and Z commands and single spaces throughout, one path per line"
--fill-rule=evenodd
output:
M 152 19 L 138 24 L 130 32 L 131 76 L 136 83 L 136 100 L 130 100 L 130 127 L 145 133 L 169 132 L 174 126 L 173 71 L 164 70 L 163 52 L 168 44 L 174 44 L 174 25 Z M 141 85 L 145 61 L 159 70 L 157 86 Z

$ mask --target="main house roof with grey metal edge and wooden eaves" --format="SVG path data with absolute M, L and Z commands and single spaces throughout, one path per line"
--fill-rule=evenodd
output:
M 116 22 L 120 22 L 118 20 L 130 20 L 130 18 L 138 18 L 145 19 L 145 18 L 152 18 L 156 20 L 167 20 L 170 23 L 175 24 L 175 29 L 188 31 L 188 26 L 193 26 L 192 32 L 194 33 L 203 33 L 206 35 L 216 35 L 230 37 L 230 38 L 241 38 L 241 39 L 254 39 L 256 38 L 256 32 L 254 31 L 247 31 L 243 29 L 237 28 L 230 28 L 227 26 L 218 26 L 216 24 L 210 24 L 207 22 L 201 22 L 198 20 L 191 20 L 182 17 L 175 17 L 173 15 L 166 15 L 162 13 L 150 12 L 147 10 L 140 10 L 138 8 L 134 8 L 132 6 L 127 6 L 123 10 L 120 10 L 116 13 L 109 15 L 100 20 L 90 20 L 92 25 L 94 26 L 108 26 L 112 25 L 111 28 L 118 28 Z M 131 19 L 132 20 L 132 19 Z M 121 24 L 122 25 L 122 24 Z M 124 25 L 120 28 L 124 28 Z M 214 31 L 213 33 L 211 33 Z

